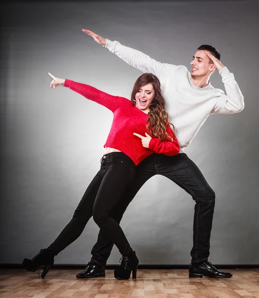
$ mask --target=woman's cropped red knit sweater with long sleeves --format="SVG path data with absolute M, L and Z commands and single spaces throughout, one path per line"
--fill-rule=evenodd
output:
M 145 137 L 148 114 L 138 109 L 127 98 L 113 96 L 92 86 L 77 83 L 69 79 L 65 80 L 64 86 L 112 111 L 113 121 L 104 147 L 120 150 L 128 155 L 134 161 L 135 165 L 152 153 L 163 153 L 169 156 L 179 153 L 180 146 L 175 137 L 171 142 L 152 138 L 149 143 L 149 149 L 142 146 L 141 139 L 134 136 L 133 133 Z M 173 136 L 169 125 L 167 127 L 167 133 Z

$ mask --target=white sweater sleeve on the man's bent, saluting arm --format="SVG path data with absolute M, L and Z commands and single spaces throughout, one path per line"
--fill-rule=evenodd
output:
M 218 114 L 232 114 L 241 112 L 244 109 L 244 96 L 242 95 L 234 75 L 223 67 L 219 74 L 222 76 L 226 94 L 218 89 L 214 99 L 216 100 L 215 106 L 211 113 Z

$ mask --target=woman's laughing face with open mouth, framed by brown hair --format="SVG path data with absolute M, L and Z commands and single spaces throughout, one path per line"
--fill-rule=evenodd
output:
M 152 103 L 154 97 L 155 90 L 151 83 L 142 86 L 135 95 L 136 107 L 143 112 L 148 113 L 150 111 L 149 106 Z

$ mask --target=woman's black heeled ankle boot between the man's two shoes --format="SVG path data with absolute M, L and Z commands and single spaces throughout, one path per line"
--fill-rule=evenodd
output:
M 130 255 L 120 258 L 120 266 L 114 270 L 114 277 L 116 279 L 129 279 L 132 271 L 132 278 L 137 278 L 137 269 L 139 260 L 135 251 L 132 251 Z

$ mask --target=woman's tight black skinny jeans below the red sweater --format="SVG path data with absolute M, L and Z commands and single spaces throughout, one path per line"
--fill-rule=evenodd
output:
M 122 198 L 127 185 L 131 184 L 136 172 L 134 162 L 122 152 L 104 154 L 101 169 L 88 186 L 76 208 L 72 220 L 55 241 L 48 247 L 55 255 L 76 240 L 93 216 L 102 233 L 118 247 L 123 256 L 132 249 L 118 221 L 111 218 L 111 212 Z

